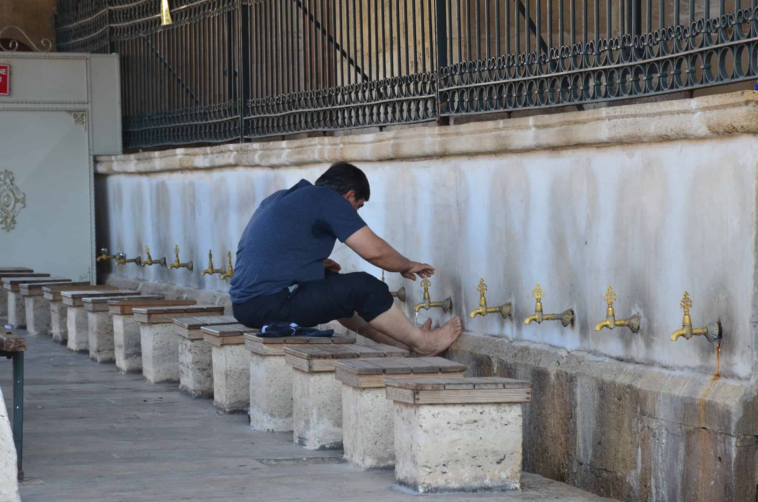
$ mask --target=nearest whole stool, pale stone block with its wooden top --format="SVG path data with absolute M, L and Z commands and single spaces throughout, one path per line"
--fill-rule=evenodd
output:
M 394 401 L 395 478 L 401 485 L 419 493 L 520 488 L 522 403 L 531 400 L 529 382 L 406 378 L 386 383 L 387 399 Z

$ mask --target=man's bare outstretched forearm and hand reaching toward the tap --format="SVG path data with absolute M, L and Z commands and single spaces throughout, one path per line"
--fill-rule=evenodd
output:
M 387 241 L 374 234 L 368 225 L 348 237 L 345 243 L 371 265 L 376 265 L 388 272 L 400 272 L 406 279 L 415 281 L 414 274 L 418 274 L 421 278 L 434 274 L 433 266 L 428 263 L 413 262 L 402 256 Z

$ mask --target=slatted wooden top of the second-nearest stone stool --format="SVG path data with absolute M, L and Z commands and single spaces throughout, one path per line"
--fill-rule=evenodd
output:
M 337 380 L 359 388 L 384 387 L 387 378 L 462 377 L 465 364 L 443 357 L 352 359 L 334 363 Z

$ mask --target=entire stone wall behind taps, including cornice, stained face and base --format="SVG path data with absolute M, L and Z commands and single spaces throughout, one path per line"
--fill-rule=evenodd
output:
M 465 334 L 449 356 L 472 375 L 534 382 L 525 469 L 623 500 L 753 500 L 756 472 L 756 156 L 752 92 L 358 136 L 98 158 L 99 246 L 193 259 L 193 272 L 114 268 L 109 281 L 226 291 L 249 216 L 274 190 L 340 159 L 371 182 L 361 215 L 401 253 L 437 267 L 432 300 L 453 298 Z M 380 271 L 338 245 L 344 271 Z M 514 315 L 468 318 L 476 286 Z M 531 290 L 568 328 L 524 325 Z M 406 312 L 421 301 L 418 283 Z M 594 331 L 603 292 L 637 334 Z M 721 378 L 703 337 L 672 342 L 679 300 L 693 322 L 721 318 Z M 213 293 L 216 294 L 216 293 Z M 442 322 L 448 315 L 422 311 Z M 753 499 L 747 498 L 753 497 Z

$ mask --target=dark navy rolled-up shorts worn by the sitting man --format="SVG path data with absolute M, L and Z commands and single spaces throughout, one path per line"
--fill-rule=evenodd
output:
M 298 283 L 292 294 L 284 288 L 279 293 L 233 303 L 232 312 L 249 328 L 262 328 L 271 322 L 315 326 L 352 317 L 355 312 L 371 322 L 387 312 L 392 302 L 387 284 L 366 272 L 351 272 Z

